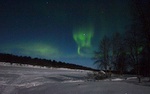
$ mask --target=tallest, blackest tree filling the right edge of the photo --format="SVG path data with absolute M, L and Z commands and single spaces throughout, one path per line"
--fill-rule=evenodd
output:
M 149 0 L 132 0 L 134 11 L 136 12 L 136 20 L 140 21 L 142 32 L 144 34 L 145 43 L 142 53 L 143 73 L 149 76 L 150 80 L 150 1 Z

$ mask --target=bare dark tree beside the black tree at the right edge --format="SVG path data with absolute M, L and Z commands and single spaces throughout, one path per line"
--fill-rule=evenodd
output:
M 131 29 L 126 32 L 125 42 L 127 46 L 128 61 L 130 62 L 131 67 L 135 69 L 140 82 L 140 59 L 144 45 L 141 30 L 137 25 L 132 25 Z

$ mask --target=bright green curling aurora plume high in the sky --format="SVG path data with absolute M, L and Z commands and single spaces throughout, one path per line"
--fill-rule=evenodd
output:
M 80 56 L 86 55 L 81 49 L 90 48 L 91 40 L 94 35 L 93 26 L 79 27 L 73 30 L 73 39 L 78 45 L 77 53 Z M 86 50 L 87 51 L 87 50 Z

